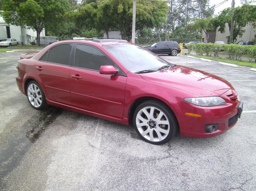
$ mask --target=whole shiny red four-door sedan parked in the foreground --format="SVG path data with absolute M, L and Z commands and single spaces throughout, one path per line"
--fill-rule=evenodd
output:
M 182 136 L 208 138 L 236 124 L 243 103 L 230 83 L 170 64 L 123 40 L 52 43 L 20 56 L 16 81 L 35 109 L 49 105 L 133 124 L 152 144 Z

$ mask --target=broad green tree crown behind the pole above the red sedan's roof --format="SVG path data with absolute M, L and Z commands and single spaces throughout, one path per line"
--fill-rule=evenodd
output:
M 119 30 L 123 39 L 132 38 L 131 0 L 85 1 L 74 7 L 66 16 L 72 18 L 79 26 L 104 30 L 108 36 L 110 30 Z M 159 28 L 165 22 L 167 4 L 165 2 L 136 3 L 136 30 Z

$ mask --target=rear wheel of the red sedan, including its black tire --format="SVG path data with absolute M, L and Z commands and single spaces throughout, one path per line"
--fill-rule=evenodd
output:
M 44 92 L 41 86 L 36 81 L 31 81 L 30 83 L 28 83 L 26 87 L 26 94 L 27 94 L 28 102 L 34 109 L 43 110 L 48 107 Z M 41 103 L 40 103 L 40 100 L 41 100 Z

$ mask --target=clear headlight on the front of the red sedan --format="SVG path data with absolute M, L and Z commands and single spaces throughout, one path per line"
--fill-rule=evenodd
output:
M 226 101 L 219 96 L 190 97 L 184 98 L 184 100 L 198 106 L 216 106 L 226 104 Z

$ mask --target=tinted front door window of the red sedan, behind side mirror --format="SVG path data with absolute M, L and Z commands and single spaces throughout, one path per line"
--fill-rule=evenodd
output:
M 113 65 L 113 63 L 100 50 L 88 45 L 76 45 L 76 67 L 99 71 L 103 65 Z

